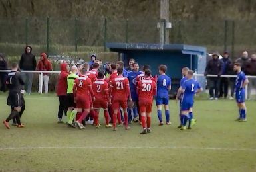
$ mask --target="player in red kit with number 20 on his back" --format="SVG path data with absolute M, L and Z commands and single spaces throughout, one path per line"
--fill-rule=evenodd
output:
M 150 133 L 153 96 L 156 95 L 156 83 L 150 79 L 151 71 L 145 71 L 145 78 L 138 82 L 137 90 L 140 103 L 140 115 L 143 131 L 140 134 Z

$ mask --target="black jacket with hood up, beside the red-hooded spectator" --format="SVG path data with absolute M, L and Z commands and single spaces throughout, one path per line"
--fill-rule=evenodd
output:
M 29 47 L 30 53 L 27 53 L 26 49 Z M 35 71 L 37 67 L 37 61 L 35 60 L 35 55 L 31 53 L 32 48 L 31 46 L 26 46 L 25 53 L 21 55 L 21 60 L 19 61 L 19 67 L 21 70 L 25 71 Z

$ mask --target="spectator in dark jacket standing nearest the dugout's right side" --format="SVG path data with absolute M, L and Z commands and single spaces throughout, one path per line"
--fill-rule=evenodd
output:
M 222 62 L 219 60 L 218 54 L 212 54 L 212 59 L 207 62 L 204 75 L 218 75 L 218 77 L 207 77 L 207 83 L 209 85 L 209 100 L 217 100 L 219 96 L 219 84 L 220 76 L 222 73 Z M 215 93 L 214 93 L 215 91 Z

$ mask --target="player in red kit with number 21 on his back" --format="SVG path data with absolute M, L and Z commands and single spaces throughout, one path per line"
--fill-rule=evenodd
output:
M 124 112 L 124 126 L 125 129 L 128 130 L 130 127 L 128 126 L 128 114 L 127 114 L 127 100 L 132 102 L 131 94 L 130 94 L 130 86 L 129 80 L 127 77 L 123 76 L 122 68 L 118 69 L 118 77 L 112 79 L 110 83 L 110 95 L 113 97 L 112 108 L 114 110 L 113 114 L 113 127 L 114 131 L 116 131 L 116 116 L 118 113 L 119 107 L 122 108 Z

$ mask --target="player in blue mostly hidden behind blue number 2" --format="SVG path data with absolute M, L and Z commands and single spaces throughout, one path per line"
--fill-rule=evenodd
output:
M 177 92 L 177 95 L 176 95 L 176 103 L 178 102 L 178 100 L 180 100 L 180 108 L 181 108 L 181 105 L 182 105 L 182 84 L 184 83 L 184 81 L 186 81 L 188 78 L 187 78 L 187 75 L 188 75 L 188 71 L 190 69 L 188 67 L 184 67 L 182 68 L 182 79 L 180 79 L 180 87 L 178 89 L 178 92 Z M 181 109 L 180 109 L 181 110 Z M 178 128 L 182 128 L 182 118 L 181 118 L 181 115 L 180 115 L 180 112 L 179 112 L 179 116 L 180 116 L 180 126 L 178 126 Z M 193 114 L 192 112 L 190 112 L 190 118 L 193 118 Z M 188 123 L 188 126 L 190 127 L 190 124 L 191 124 L 191 120 L 189 120 L 189 123 Z

